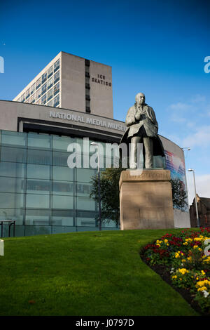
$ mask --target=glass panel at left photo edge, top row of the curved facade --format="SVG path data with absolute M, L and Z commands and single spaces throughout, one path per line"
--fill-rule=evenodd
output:
M 5 145 L 7 147 L 25 147 L 27 145 L 27 134 L 21 132 L 2 131 L 1 145 Z

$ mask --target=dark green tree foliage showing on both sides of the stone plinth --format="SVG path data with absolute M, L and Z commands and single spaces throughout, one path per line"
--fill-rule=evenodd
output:
M 102 222 L 113 220 L 116 224 L 120 223 L 120 196 L 119 196 L 119 181 L 120 174 L 124 171 L 121 166 L 119 168 L 110 168 L 101 172 L 100 187 L 101 187 L 101 219 Z M 93 176 L 91 182 L 92 191 L 90 198 L 98 201 L 98 176 Z M 184 190 L 183 183 L 178 178 L 171 179 L 172 183 L 172 200 L 173 207 L 181 211 L 185 211 L 188 203 L 186 202 L 187 193 Z M 99 220 L 97 218 L 97 220 Z

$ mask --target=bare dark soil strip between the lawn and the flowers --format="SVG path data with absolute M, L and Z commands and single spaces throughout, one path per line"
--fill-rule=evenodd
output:
M 202 316 L 209 316 L 209 313 L 202 312 L 200 305 L 198 305 L 197 301 L 193 300 L 193 296 L 190 294 L 190 291 L 181 289 L 181 288 L 177 288 L 176 286 L 173 285 L 171 276 L 170 276 L 170 272 L 169 272 L 169 270 L 167 270 L 167 268 L 165 268 L 164 265 L 149 265 L 148 261 L 146 260 L 146 257 L 144 256 L 144 249 L 142 249 L 139 254 L 140 254 L 141 259 L 144 261 L 144 263 L 146 263 L 146 265 L 148 265 L 148 267 L 150 267 L 154 272 L 156 272 L 158 275 L 160 275 L 160 277 L 162 277 L 162 279 L 165 282 L 167 282 L 167 284 L 172 286 L 172 288 L 174 290 L 179 292 L 179 294 L 181 294 L 181 296 L 188 302 L 188 304 L 196 312 L 200 313 L 200 315 L 202 315 Z

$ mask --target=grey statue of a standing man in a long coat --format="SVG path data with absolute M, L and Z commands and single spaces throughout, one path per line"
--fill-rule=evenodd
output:
M 145 168 L 153 168 L 153 155 L 165 157 L 162 142 L 158 137 L 158 122 L 152 107 L 145 103 L 145 95 L 138 93 L 135 104 L 130 107 L 125 119 L 128 127 L 120 143 L 131 144 L 130 169 L 137 169 L 137 145 L 144 144 Z

